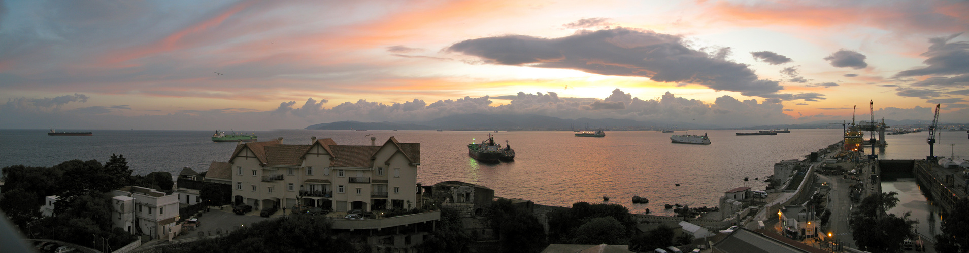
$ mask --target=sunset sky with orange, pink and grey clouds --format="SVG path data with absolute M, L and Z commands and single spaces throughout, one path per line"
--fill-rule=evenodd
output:
M 0 127 L 969 123 L 966 31 L 954 0 L 6 0 Z

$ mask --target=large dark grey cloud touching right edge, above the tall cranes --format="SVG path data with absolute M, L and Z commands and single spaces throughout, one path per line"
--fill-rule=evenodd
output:
M 922 61 L 928 67 L 900 71 L 895 77 L 969 73 L 969 42 L 949 42 L 960 35 L 962 34 L 928 40 L 932 44 L 928 46 L 928 51 L 922 53 L 922 56 L 928 57 Z

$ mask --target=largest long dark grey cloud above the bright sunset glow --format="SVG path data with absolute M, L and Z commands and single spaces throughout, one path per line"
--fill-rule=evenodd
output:
M 759 79 L 746 65 L 688 48 L 679 36 L 627 28 L 580 30 L 556 39 L 489 37 L 457 42 L 446 50 L 477 56 L 488 64 L 641 76 L 658 82 L 702 84 L 744 96 L 784 89 L 776 81 Z

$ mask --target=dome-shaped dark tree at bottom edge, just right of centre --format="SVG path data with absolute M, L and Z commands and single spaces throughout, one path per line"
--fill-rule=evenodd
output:
M 585 222 L 576 229 L 573 244 L 627 244 L 626 227 L 611 216 L 598 217 Z

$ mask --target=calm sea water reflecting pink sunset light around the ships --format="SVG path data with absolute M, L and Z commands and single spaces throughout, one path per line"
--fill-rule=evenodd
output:
M 64 131 L 71 131 L 65 129 Z M 94 136 L 47 136 L 47 129 L 7 129 L 0 133 L 0 167 L 23 164 L 52 166 L 70 159 L 107 161 L 109 155 L 128 158 L 137 174 L 182 167 L 204 171 L 211 161 L 227 161 L 234 143 L 214 143 L 212 131 L 183 130 L 93 130 Z M 585 201 L 599 203 L 609 196 L 611 203 L 633 212 L 650 209 L 659 214 L 663 204 L 713 207 L 722 192 L 737 186 L 763 188 L 773 173 L 773 164 L 784 159 L 802 159 L 810 152 L 837 142 L 841 129 L 793 129 L 776 136 L 736 136 L 735 131 L 693 131 L 708 133 L 713 144 L 688 145 L 670 142 L 670 133 L 658 131 L 610 131 L 603 138 L 575 137 L 571 131 L 511 131 L 492 133 L 495 140 L 508 140 L 516 150 L 516 161 L 481 164 L 468 157 L 466 145 L 487 138 L 485 131 L 428 130 L 306 130 L 281 129 L 255 132 L 260 140 L 284 137 L 286 144 L 308 144 L 310 136 L 333 138 L 341 145 L 378 145 L 395 136 L 402 142 L 422 145 L 422 166 L 418 181 L 478 183 L 495 190 L 495 195 L 522 198 L 538 204 L 571 206 Z M 682 134 L 685 131 L 677 131 Z M 918 134 L 918 133 L 917 133 Z M 965 134 L 962 132 L 962 134 Z M 883 157 L 918 158 L 924 136 L 890 135 Z M 953 134 L 954 136 L 955 134 Z M 964 135 L 961 137 L 965 137 Z M 919 144 L 921 141 L 921 144 Z M 911 143 L 911 147 L 908 146 Z M 948 144 L 940 138 L 939 146 Z M 965 145 L 962 149 L 965 149 Z M 927 153 L 927 148 L 924 148 Z M 959 147 L 957 146 L 956 152 Z M 896 152 L 897 151 L 897 152 Z M 964 154 L 964 152 L 963 152 Z M 907 155 L 907 156 L 906 156 Z M 911 157 L 908 157 L 911 156 Z M 744 182 L 747 177 L 750 181 Z M 758 178 L 759 180 L 755 180 Z M 680 186 L 675 186 L 679 183 Z M 634 195 L 650 200 L 633 205 Z

